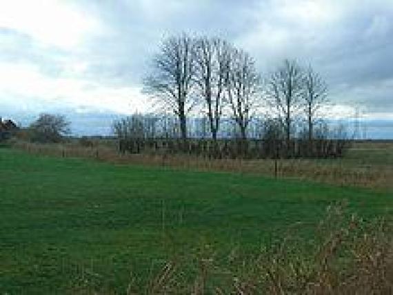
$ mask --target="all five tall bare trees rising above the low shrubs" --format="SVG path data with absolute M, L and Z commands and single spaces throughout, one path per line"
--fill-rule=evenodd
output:
M 163 40 L 144 85 L 146 93 L 178 118 L 182 139 L 188 137 L 190 112 L 200 112 L 208 119 L 213 141 L 223 118 L 231 119 L 246 139 L 256 114 L 268 114 L 266 122 L 274 122 L 287 143 L 303 120 L 312 141 L 317 113 L 328 102 L 326 83 L 311 66 L 285 60 L 262 77 L 244 50 L 220 38 L 186 34 Z

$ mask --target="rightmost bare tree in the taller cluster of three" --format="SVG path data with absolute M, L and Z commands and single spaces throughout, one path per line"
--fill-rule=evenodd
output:
M 227 67 L 225 90 L 228 105 L 241 139 L 245 140 L 248 125 L 259 107 L 261 77 L 256 71 L 254 59 L 242 50 L 231 50 Z

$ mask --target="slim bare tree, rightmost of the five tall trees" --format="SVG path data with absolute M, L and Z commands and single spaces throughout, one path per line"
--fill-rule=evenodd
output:
M 314 138 L 313 127 L 316 116 L 328 103 L 328 85 L 311 66 L 305 71 L 303 97 L 308 123 L 308 141 L 311 143 Z

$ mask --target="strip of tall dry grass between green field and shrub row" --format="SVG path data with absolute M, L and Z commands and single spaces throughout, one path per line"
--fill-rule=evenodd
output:
M 334 185 L 380 189 L 393 187 L 392 165 L 370 165 L 346 159 L 206 159 L 183 154 L 119 154 L 111 145 L 83 147 L 76 143 L 40 145 L 15 141 L 14 148 L 32 154 L 95 159 L 116 164 L 165 166 L 187 170 L 240 172 L 272 177 L 296 178 Z M 276 169 L 277 167 L 277 169 Z

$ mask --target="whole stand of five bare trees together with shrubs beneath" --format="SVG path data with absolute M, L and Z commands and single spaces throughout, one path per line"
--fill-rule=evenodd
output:
M 250 156 L 255 139 L 263 141 L 258 145 L 263 156 L 341 156 L 345 148 L 342 130 L 332 132 L 323 123 L 328 86 L 311 65 L 286 59 L 263 76 L 248 52 L 224 39 L 187 34 L 164 39 L 144 93 L 152 108 L 158 105 L 167 115 L 136 114 L 114 122 L 122 152 L 143 151 L 141 139 L 164 138 L 179 142 L 174 150 L 164 144 L 170 152 L 191 152 L 196 139 L 210 138 L 208 150 L 214 152 L 208 154 L 221 156 L 223 146 L 236 146 L 226 154 Z

